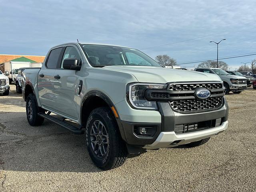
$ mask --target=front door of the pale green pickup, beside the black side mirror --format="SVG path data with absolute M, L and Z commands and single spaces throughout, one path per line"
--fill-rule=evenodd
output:
M 78 120 L 76 109 L 76 96 L 78 95 L 79 76 L 76 70 L 63 69 L 62 64 L 66 58 L 78 58 L 81 61 L 82 55 L 75 45 L 64 48 L 60 66 L 55 70 L 54 89 L 56 92 L 56 112 L 66 117 Z

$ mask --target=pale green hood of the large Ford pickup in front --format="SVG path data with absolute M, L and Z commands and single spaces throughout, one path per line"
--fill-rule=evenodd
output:
M 189 81 L 221 81 L 215 74 L 148 66 L 105 66 L 107 70 L 114 70 L 132 74 L 138 82 L 167 83 Z

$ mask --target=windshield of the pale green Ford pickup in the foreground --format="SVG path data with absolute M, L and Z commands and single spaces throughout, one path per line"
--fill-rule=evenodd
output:
M 93 67 L 107 65 L 162 67 L 146 54 L 132 48 L 92 44 L 82 44 L 82 48 Z

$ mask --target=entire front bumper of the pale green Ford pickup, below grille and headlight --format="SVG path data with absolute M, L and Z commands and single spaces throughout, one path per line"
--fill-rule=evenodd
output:
M 127 144 L 142 148 L 173 147 L 193 142 L 196 140 L 201 140 L 202 138 L 206 138 L 214 134 L 217 134 L 222 131 L 223 123 L 225 123 L 226 127 L 228 124 L 228 104 L 225 98 L 223 106 L 221 106 L 218 109 L 185 114 L 173 111 L 168 102 L 157 103 L 159 111 L 151 111 L 157 112 L 155 114 L 157 116 L 154 117 L 154 113 L 149 113 L 152 115 L 150 119 L 147 116 L 142 116 L 142 114 L 145 115 L 148 112 L 147 110 L 135 110 L 137 111 L 137 115 L 140 118 L 136 118 L 136 120 L 131 121 L 130 119 L 132 118 L 130 116 L 124 116 L 122 110 L 120 110 L 120 106 L 119 108 L 117 108 L 118 110 L 120 110 L 120 112 L 118 111 L 120 114 L 118 126 L 120 128 L 121 136 Z M 132 116 L 132 113 L 130 115 Z M 214 122 L 217 119 L 221 119 L 221 126 L 212 126 L 211 122 Z M 210 122 L 210 125 L 208 124 L 204 126 L 204 123 L 207 122 Z M 198 130 L 194 130 L 193 132 L 187 132 L 183 134 L 178 133 L 178 127 L 184 124 L 186 124 L 184 126 L 187 126 L 187 124 L 192 123 L 198 124 Z M 152 134 L 150 136 L 137 134 L 138 129 L 140 129 L 141 127 L 146 127 L 149 130 L 154 131 L 152 131 Z M 224 130 L 226 130 L 226 127 L 224 128 Z M 192 137 L 188 137 L 190 135 L 192 135 Z M 177 139 L 179 137 L 186 137 L 186 139 Z M 164 141 L 168 141 L 168 145 L 161 144 L 160 141 L 162 140 L 162 138 L 164 139 Z M 170 146 L 170 144 L 175 140 L 182 141 L 180 141 L 176 145 Z M 158 142 L 160 142 L 159 145 Z

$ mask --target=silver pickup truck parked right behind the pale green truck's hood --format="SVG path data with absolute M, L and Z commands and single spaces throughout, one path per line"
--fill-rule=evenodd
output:
M 194 70 L 220 76 L 224 87 L 226 88 L 226 94 L 228 94 L 230 91 L 239 94 L 247 88 L 245 77 L 230 75 L 220 68 L 195 68 Z

